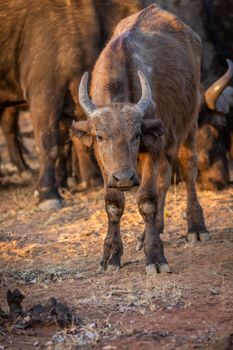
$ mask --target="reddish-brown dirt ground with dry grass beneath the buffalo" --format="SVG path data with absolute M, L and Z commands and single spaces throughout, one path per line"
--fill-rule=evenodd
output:
M 122 269 L 97 274 L 107 224 L 103 190 L 67 191 L 66 207 L 41 212 L 36 175 L 20 178 L 7 169 L 0 185 L 0 308 L 8 312 L 7 290 L 18 288 L 24 308 L 55 297 L 80 322 L 62 329 L 0 325 L 0 349 L 233 349 L 233 187 L 199 192 L 212 238 L 195 244 L 184 239 L 185 188 L 171 187 L 162 239 L 173 273 L 153 276 L 135 251 L 143 221 L 127 193 Z

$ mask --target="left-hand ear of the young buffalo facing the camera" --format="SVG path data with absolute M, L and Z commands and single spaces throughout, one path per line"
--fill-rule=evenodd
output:
M 91 147 L 93 144 L 93 134 L 90 120 L 73 121 L 70 130 L 70 138 L 72 137 L 78 137 L 85 146 Z

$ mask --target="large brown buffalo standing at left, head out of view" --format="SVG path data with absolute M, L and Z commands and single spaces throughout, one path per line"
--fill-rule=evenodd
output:
M 85 118 L 76 87 L 100 49 L 93 2 L 1 1 L 0 110 L 25 101 L 30 107 L 43 209 L 61 207 L 55 181 L 61 116 L 67 123 Z

